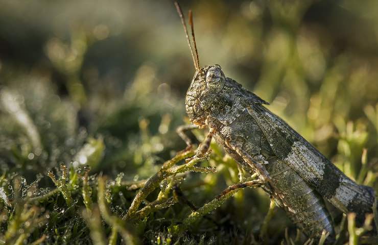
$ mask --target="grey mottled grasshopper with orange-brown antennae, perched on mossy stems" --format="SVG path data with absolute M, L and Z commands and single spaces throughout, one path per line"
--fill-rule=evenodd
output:
M 333 219 L 325 206 L 329 202 L 343 213 L 356 213 L 362 222 L 373 213 L 375 192 L 358 185 L 317 149 L 269 111 L 269 105 L 238 82 L 227 78 L 220 65 L 200 66 L 192 12 L 189 11 L 192 40 L 185 18 L 175 3 L 196 68 L 187 90 L 185 109 L 193 125 L 177 131 L 190 146 L 185 130 L 209 128 L 197 155 L 209 148 L 211 138 L 245 169 L 253 169 L 263 189 L 285 209 L 306 235 L 319 239 L 322 231 L 335 241 Z

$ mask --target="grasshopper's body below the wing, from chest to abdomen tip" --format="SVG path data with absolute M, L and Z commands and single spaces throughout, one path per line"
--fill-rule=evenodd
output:
M 273 186 L 267 185 L 264 189 L 272 194 L 275 201 L 306 235 L 319 239 L 325 230 L 329 232 L 326 242 L 335 240 L 332 217 L 323 198 L 294 169 L 275 156 L 252 116 L 243 111 L 228 123 L 214 120 L 212 124 L 218 129 L 215 139 L 235 160 L 249 168 L 243 158 L 232 150 L 239 147 L 266 168 Z

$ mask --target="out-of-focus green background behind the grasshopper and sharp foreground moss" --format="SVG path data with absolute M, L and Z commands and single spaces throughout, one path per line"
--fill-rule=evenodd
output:
M 202 65 L 220 64 L 349 177 L 374 185 L 378 2 L 180 4 L 185 14 L 193 10 Z M 184 97 L 194 66 L 171 1 L 0 0 L 0 6 L 0 183 L 10 199 L 15 176 L 37 180 L 41 192 L 54 186 L 45 173 L 60 163 L 88 164 L 91 174 L 110 179 L 121 172 L 124 180 L 146 179 L 185 148 L 175 129 L 187 122 Z M 196 181 L 213 179 L 187 195 L 201 206 L 238 180 L 230 175 L 195 174 Z M 268 197 L 245 192 L 239 204 L 213 215 L 232 216 L 236 207 L 264 218 Z M 284 213 L 277 217 L 277 224 L 285 220 Z M 237 230 L 227 230 L 229 239 L 255 232 L 252 221 L 229 217 L 224 229 Z M 150 227 L 154 237 L 157 226 Z M 189 236 L 211 230 L 201 229 Z M 275 237 L 283 236 L 279 231 Z M 209 233 L 206 239 L 226 239 L 219 230 Z

